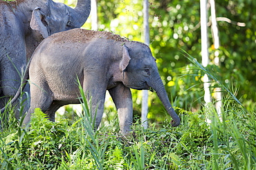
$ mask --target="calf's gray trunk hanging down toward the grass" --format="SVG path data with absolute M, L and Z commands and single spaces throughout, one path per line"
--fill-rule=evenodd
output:
M 155 78 L 152 78 L 151 82 L 148 83 L 148 85 L 156 91 L 157 96 L 160 98 L 161 102 L 165 106 L 165 109 L 167 110 L 168 114 L 170 114 L 170 116 L 172 117 L 172 119 L 173 119 L 171 122 L 172 126 L 173 127 L 179 126 L 181 123 L 181 120 L 180 120 L 179 116 L 176 114 L 176 112 L 174 111 L 174 109 L 172 108 L 172 105 L 169 101 L 169 98 L 165 91 L 165 87 L 163 85 L 163 82 L 162 82 L 159 74 L 154 77 Z

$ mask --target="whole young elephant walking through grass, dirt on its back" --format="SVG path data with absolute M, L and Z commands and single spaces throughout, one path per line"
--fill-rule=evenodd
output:
M 37 107 L 54 121 L 59 107 L 80 103 L 77 77 L 87 98 L 91 98 L 92 114 L 97 110 L 97 127 L 108 90 L 118 110 L 120 132 L 127 134 L 133 116 L 130 88 L 150 87 L 172 116 L 172 125 L 180 124 L 180 118 L 167 98 L 152 52 L 143 43 L 127 41 L 109 32 L 81 29 L 60 32 L 49 36 L 37 47 L 29 75 L 31 103 L 25 124 L 29 123 Z

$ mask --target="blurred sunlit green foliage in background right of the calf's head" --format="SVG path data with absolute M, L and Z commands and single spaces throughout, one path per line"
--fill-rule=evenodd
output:
M 255 7 L 255 2 L 217 0 L 215 3 L 217 17 L 226 17 L 231 21 L 246 23 L 246 26 L 235 25 L 235 22 L 232 24 L 224 21 L 218 22 L 221 48 L 219 50 L 214 49 L 212 36 L 209 34 L 210 67 L 214 65 L 214 52 L 218 52 L 221 61 L 218 70 L 221 75 L 221 79 L 218 78 L 219 81 L 225 82 L 227 85 L 230 85 L 232 81 L 235 82 L 235 86 L 239 86 L 238 98 L 241 98 L 241 101 L 244 99 L 255 101 L 255 93 L 250 93 L 254 92 L 256 87 L 254 78 L 256 58 L 253 54 L 255 51 L 255 35 L 253 34 L 255 16 L 250 12 L 253 6 Z M 158 19 L 151 20 L 152 50 L 158 59 L 158 68 L 167 84 L 167 89 L 176 88 L 168 86 L 168 82 L 179 78 L 173 72 L 177 68 L 188 67 L 190 64 L 188 60 L 183 58 L 179 49 L 185 50 L 198 61 L 201 61 L 199 55 L 201 52 L 201 35 L 198 27 L 200 21 L 199 1 L 152 1 L 151 4 L 151 16 L 155 14 L 158 17 Z M 210 28 L 209 32 L 211 32 Z M 168 76 L 172 78 L 168 80 Z M 190 79 L 193 78 L 193 75 L 188 76 L 191 76 Z M 179 79 L 187 83 L 184 77 Z M 192 86 L 190 85 L 190 87 Z M 172 96 L 183 98 L 179 94 L 179 88 L 172 93 Z M 201 100 L 197 102 L 200 103 Z

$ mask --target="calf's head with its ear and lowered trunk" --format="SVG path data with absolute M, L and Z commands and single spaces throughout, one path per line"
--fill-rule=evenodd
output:
M 120 72 L 123 74 L 122 83 L 133 89 L 153 88 L 168 114 L 172 116 L 172 126 L 178 126 L 181 120 L 170 104 L 151 50 L 143 43 L 133 42 L 126 45 L 123 45 L 120 62 Z

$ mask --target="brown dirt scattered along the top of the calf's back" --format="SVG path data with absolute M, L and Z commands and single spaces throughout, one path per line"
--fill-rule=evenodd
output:
M 73 30 L 68 30 L 65 32 L 59 32 L 51 36 L 56 42 L 60 41 L 70 41 L 72 43 L 80 43 L 91 41 L 93 39 L 113 39 L 114 41 L 119 42 L 129 42 L 128 39 L 122 38 L 120 35 L 113 34 L 106 31 L 92 31 L 76 28 Z

